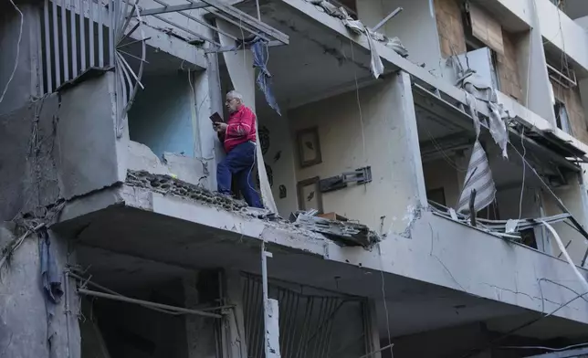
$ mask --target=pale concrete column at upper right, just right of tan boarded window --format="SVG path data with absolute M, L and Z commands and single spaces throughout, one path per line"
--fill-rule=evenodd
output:
M 530 111 L 556 125 L 555 113 L 551 97 L 551 82 L 547 73 L 545 49 L 539 18 L 535 7 L 535 0 L 529 0 L 529 9 L 532 12 L 530 32 L 519 38 L 516 44 L 519 51 L 519 73 L 523 93 L 523 104 Z

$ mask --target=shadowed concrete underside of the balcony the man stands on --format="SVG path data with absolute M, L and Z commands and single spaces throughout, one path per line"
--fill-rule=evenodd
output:
M 79 264 L 89 268 L 92 278 L 122 292 L 158 285 L 193 269 L 260 271 L 257 239 L 137 209 L 106 209 L 60 230 L 77 234 Z M 327 261 L 285 247 L 269 249 L 274 254 L 268 261 L 271 278 L 376 300 L 383 335 L 387 334 L 387 322 L 391 334 L 401 336 L 472 321 L 506 320 L 525 312 L 459 290 L 382 275 L 363 269 L 361 264 Z

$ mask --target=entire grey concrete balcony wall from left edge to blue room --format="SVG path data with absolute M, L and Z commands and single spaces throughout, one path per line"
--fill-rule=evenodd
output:
M 124 180 L 127 139 L 116 139 L 111 80 L 108 73 L 0 115 L 1 219 Z

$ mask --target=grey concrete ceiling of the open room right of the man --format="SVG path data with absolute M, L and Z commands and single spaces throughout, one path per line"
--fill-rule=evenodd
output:
M 288 46 L 269 47 L 268 69 L 284 108 L 298 107 L 355 89 L 372 79 L 369 53 L 326 26 L 299 16 L 280 2 L 262 6 L 268 26 L 289 36 Z M 388 68 L 390 70 L 391 68 Z

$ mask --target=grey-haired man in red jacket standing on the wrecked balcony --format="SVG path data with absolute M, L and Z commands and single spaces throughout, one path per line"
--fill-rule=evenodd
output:
M 236 90 L 226 94 L 225 104 L 230 113 L 228 121 L 213 124 L 226 152 L 226 158 L 216 167 L 218 192 L 231 195 L 231 177 L 236 175 L 247 204 L 263 207 L 251 183 L 256 161 L 256 115 L 243 104 L 243 96 Z

